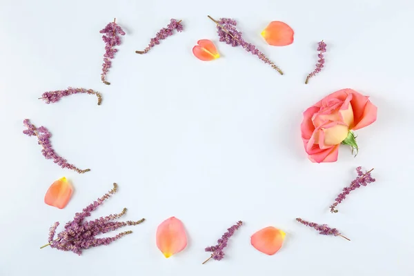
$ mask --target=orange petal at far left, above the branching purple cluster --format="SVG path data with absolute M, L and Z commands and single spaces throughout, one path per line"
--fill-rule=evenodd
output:
M 66 177 L 62 177 L 50 185 L 45 195 L 45 203 L 63 209 L 68 204 L 72 192 L 72 185 Z

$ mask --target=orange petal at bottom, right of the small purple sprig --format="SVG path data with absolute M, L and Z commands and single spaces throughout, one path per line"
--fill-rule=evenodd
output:
M 267 255 L 274 255 L 282 247 L 286 233 L 273 226 L 257 231 L 250 238 L 254 248 Z

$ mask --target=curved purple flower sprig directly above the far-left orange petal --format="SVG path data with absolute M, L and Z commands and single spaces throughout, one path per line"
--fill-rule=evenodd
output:
M 52 148 L 52 145 L 50 144 L 50 137 L 52 137 L 52 135 L 50 134 L 47 128 L 45 128 L 44 126 L 41 126 L 40 128 L 36 128 L 36 126 L 30 123 L 29 119 L 25 119 L 23 121 L 23 124 L 24 126 L 26 126 L 26 128 L 28 128 L 27 130 L 23 130 L 23 133 L 28 136 L 37 137 L 38 144 L 41 145 L 43 148 L 41 150 L 41 153 L 43 153 L 43 156 L 46 159 L 53 159 L 53 161 L 59 166 L 61 166 L 62 168 L 68 168 L 70 170 L 75 170 L 76 172 L 81 173 L 81 174 L 90 171 L 89 168 L 87 168 L 86 170 L 81 170 L 77 168 L 76 166 L 69 164 L 68 161 L 66 161 L 66 159 L 64 159 L 63 157 L 60 157 L 59 155 L 57 155 L 55 150 Z

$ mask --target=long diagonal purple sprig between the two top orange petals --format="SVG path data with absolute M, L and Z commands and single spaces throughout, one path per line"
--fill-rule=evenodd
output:
M 253 55 L 257 55 L 261 61 L 269 64 L 273 69 L 277 70 L 280 75 L 283 75 L 282 70 L 280 70 L 280 68 L 277 67 L 273 61 L 270 61 L 270 59 L 268 59 L 268 57 L 266 57 L 263 52 L 257 50 L 256 46 L 253 44 L 244 41 L 242 32 L 237 31 L 235 28 L 237 25 L 237 22 L 235 20 L 229 18 L 221 18 L 219 21 L 217 21 L 213 19 L 213 17 L 210 17 L 210 15 L 208 15 L 208 18 L 213 20 L 217 25 L 219 41 L 226 42 L 226 44 L 229 44 L 233 47 L 242 46 L 244 50 L 251 52 Z

